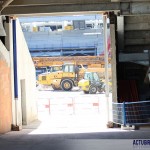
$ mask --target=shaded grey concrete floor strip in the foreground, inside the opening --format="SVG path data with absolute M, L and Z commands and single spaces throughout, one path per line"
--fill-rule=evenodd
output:
M 108 132 L 109 131 L 109 132 Z M 133 139 L 148 139 L 150 130 L 120 131 L 108 129 L 99 133 L 32 134 L 32 129 L 0 135 L 1 150 L 130 150 Z M 122 139 L 122 140 L 121 140 Z M 142 149 L 142 148 L 141 148 Z

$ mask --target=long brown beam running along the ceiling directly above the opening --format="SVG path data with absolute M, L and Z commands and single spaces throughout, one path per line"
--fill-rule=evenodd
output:
M 38 5 L 7 7 L 2 11 L 2 15 L 29 15 L 29 14 L 49 14 L 62 12 L 89 12 L 89 11 L 115 11 L 119 10 L 119 3 L 91 3 L 91 4 L 64 4 L 64 5 Z

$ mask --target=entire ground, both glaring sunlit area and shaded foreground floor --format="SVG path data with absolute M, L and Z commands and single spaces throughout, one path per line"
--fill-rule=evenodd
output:
M 111 120 L 111 93 L 109 119 Z M 23 129 L 0 135 L 2 150 L 133 150 L 134 139 L 148 139 L 149 128 L 107 128 L 105 93 L 85 95 L 37 90 L 38 120 Z M 136 147 L 139 148 L 139 147 Z M 142 149 L 142 148 L 140 148 Z

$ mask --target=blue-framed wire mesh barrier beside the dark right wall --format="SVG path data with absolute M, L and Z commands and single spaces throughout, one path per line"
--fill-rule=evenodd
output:
M 113 103 L 113 122 L 124 126 L 150 124 L 150 101 Z

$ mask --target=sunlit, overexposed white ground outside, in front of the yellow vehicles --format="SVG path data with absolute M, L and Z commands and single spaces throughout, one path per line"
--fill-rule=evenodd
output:
M 107 129 L 107 100 L 105 93 L 84 94 L 78 88 L 72 91 L 37 91 L 38 122 L 24 128 L 34 132 L 85 133 Z M 109 119 L 112 120 L 111 94 Z M 40 122 L 40 123 L 39 123 Z

